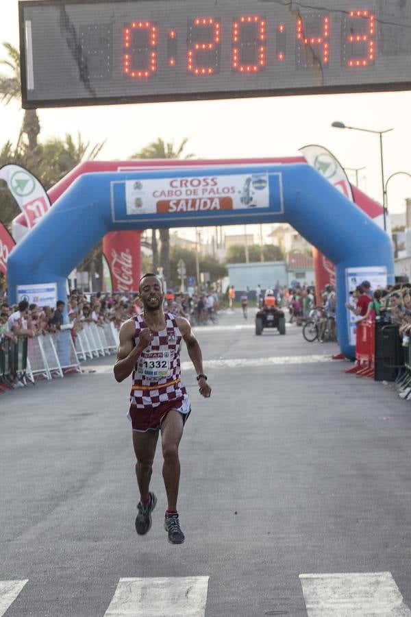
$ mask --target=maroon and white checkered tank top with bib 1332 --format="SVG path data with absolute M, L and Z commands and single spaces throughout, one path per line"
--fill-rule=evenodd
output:
M 182 333 L 174 316 L 165 313 L 166 327 L 153 332 L 153 340 L 140 355 L 132 374 L 133 386 L 130 404 L 145 409 L 158 407 L 161 403 L 188 398 L 186 388 L 180 381 L 179 351 Z M 135 343 L 138 344 L 140 330 L 148 328 L 142 315 L 135 315 Z

